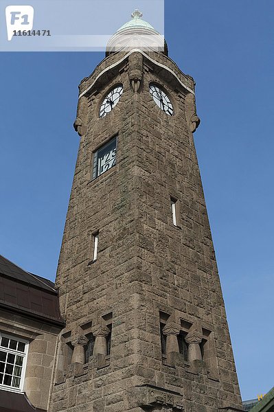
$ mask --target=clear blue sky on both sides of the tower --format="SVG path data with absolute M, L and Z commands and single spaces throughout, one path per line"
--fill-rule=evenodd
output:
M 170 57 L 197 84 L 196 149 L 245 400 L 274 385 L 273 16 L 273 0 L 165 0 Z M 0 54 L 0 253 L 49 279 L 78 151 L 78 84 L 103 57 Z

